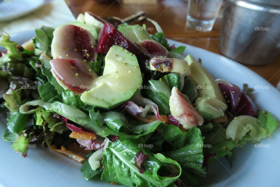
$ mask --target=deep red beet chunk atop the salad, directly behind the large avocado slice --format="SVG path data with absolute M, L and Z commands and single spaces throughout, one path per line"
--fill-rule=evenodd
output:
M 97 53 L 108 53 L 113 45 L 121 46 L 133 54 L 139 54 L 140 49 L 122 35 L 120 31 L 106 22 L 98 34 Z

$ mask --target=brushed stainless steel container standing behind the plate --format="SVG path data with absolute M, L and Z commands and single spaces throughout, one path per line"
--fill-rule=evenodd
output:
M 266 65 L 280 52 L 280 0 L 226 0 L 220 52 L 248 65 Z

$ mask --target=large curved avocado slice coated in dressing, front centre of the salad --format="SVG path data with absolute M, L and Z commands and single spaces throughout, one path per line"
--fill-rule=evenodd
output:
M 92 89 L 81 100 L 101 108 L 113 108 L 129 100 L 142 85 L 141 71 L 135 55 L 113 45 L 106 57 L 103 75 L 95 79 Z

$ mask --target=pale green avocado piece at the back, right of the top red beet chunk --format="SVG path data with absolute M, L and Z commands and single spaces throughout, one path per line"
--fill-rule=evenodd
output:
M 127 25 L 119 27 L 118 30 L 132 42 L 143 41 L 147 39 L 152 39 L 149 33 L 144 30 L 140 25 Z

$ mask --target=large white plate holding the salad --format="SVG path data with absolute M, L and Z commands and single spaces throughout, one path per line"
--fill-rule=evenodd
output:
M 33 31 L 12 35 L 19 44 L 34 36 Z M 265 79 L 252 70 L 226 57 L 194 46 L 169 40 L 176 46 L 185 45 L 185 53 L 201 58 L 202 64 L 215 76 L 227 79 L 242 87 L 269 86 L 269 89 L 256 89 L 255 103 L 259 108 L 274 114 L 280 120 L 280 93 Z M 2 50 L 2 49 L 0 49 Z M 265 67 L 264 67 L 265 68 Z M 0 125 L 0 131 L 6 129 Z M 247 144 L 244 148 L 234 149 L 234 165 L 230 168 L 225 159 L 213 163 L 206 179 L 200 180 L 201 186 L 279 186 L 280 168 L 280 134 L 276 132 L 271 138 L 261 141 L 269 148 L 257 148 Z M 0 140 L 0 186 L 83 186 L 104 187 L 107 184 L 96 179 L 83 179 L 81 164 L 73 162 L 63 155 L 43 148 L 30 148 L 28 156 L 23 158 L 10 148 L 12 143 Z M 111 186 L 110 184 L 108 186 Z

